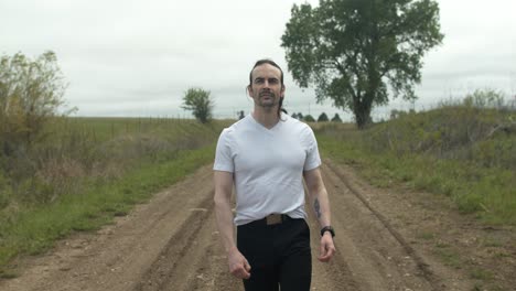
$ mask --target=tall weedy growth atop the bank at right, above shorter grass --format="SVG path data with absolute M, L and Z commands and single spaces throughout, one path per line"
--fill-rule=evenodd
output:
M 374 151 L 388 149 L 398 155 L 431 154 L 437 159 L 474 160 L 481 165 L 514 169 L 515 133 L 509 112 L 448 106 L 398 116 L 372 128 L 364 138 Z

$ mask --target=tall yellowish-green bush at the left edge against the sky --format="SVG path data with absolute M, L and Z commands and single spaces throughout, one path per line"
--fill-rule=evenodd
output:
M 0 154 L 30 147 L 64 104 L 66 85 L 53 52 L 0 60 Z M 69 111 L 68 111 L 69 112 Z

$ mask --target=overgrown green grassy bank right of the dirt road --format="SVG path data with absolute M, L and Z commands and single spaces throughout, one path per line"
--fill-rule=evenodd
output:
M 516 224 L 516 111 L 501 94 L 476 90 L 424 112 L 357 130 L 318 125 L 321 151 L 359 166 L 378 186 L 402 182 L 449 196 L 485 223 Z

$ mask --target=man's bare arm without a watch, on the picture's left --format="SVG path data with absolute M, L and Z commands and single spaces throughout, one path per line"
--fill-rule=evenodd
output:
M 232 213 L 233 173 L 215 171 L 215 214 L 218 231 L 227 254 L 229 271 L 241 279 L 250 277 L 250 266 L 235 245 L 235 235 Z

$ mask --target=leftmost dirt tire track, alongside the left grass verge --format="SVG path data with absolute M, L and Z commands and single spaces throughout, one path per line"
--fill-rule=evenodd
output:
M 115 225 L 61 241 L 51 254 L 31 258 L 24 273 L 0 282 L 0 289 L 132 290 L 189 215 L 209 207 L 212 175 L 204 166 Z

